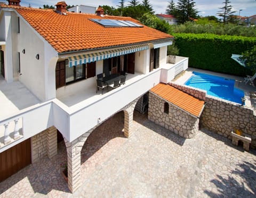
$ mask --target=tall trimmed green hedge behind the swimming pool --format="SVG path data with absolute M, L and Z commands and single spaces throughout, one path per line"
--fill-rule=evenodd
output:
M 251 71 L 231 59 L 256 45 L 255 37 L 214 34 L 173 34 L 179 55 L 189 57 L 189 67 L 228 73 L 252 75 Z

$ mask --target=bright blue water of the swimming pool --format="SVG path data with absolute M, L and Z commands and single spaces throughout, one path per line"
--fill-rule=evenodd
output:
M 239 104 L 242 104 L 241 97 L 244 97 L 244 92 L 234 87 L 235 80 L 207 75 L 206 73 L 193 72 L 193 76 L 185 85 L 204 89 L 208 95 Z

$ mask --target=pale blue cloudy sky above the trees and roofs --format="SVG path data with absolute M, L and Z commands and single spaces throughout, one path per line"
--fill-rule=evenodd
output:
M 2 2 L 6 2 L 5 0 L 0 0 Z M 57 2 L 61 0 L 21 0 L 21 6 L 28 6 L 29 4 L 32 7 L 43 7 L 44 4 L 55 5 Z M 63 0 L 62 0 L 63 1 Z M 129 4 L 131 0 L 125 0 L 125 5 Z M 138 0 L 140 3 L 142 0 Z M 149 3 L 153 5 L 153 10 L 155 14 L 164 14 L 167 5 L 171 0 L 149 0 Z M 217 12 L 220 11 L 220 7 L 223 7 L 223 2 L 225 0 L 194 0 L 196 3 L 195 8 L 198 11 L 198 14 L 201 16 L 219 16 Z M 241 16 L 251 16 L 256 14 L 256 0 L 229 0 L 230 5 L 233 7 L 233 11 L 236 11 L 234 14 Z M 68 5 L 89 5 L 98 7 L 99 5 L 109 5 L 117 8 L 117 5 L 120 5 L 118 2 L 120 0 L 66 0 Z M 174 0 L 175 5 L 177 5 L 178 0 Z M 7 2 L 6 2 L 7 3 Z M 240 11 L 239 11 L 240 10 Z

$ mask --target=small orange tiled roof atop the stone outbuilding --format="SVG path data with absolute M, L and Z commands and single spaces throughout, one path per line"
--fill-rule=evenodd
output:
M 181 109 L 193 114 L 194 116 L 199 116 L 203 107 L 204 101 L 191 96 L 181 90 L 172 87 L 171 85 L 166 85 L 159 83 L 150 89 L 151 92 L 157 94 L 158 96 L 164 98 L 166 101 L 179 106 Z

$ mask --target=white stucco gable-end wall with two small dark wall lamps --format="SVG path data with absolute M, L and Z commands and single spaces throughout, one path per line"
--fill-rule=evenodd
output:
M 25 54 L 22 53 L 23 49 Z M 21 18 L 18 51 L 20 52 L 19 80 L 40 100 L 45 101 L 44 42 Z M 37 54 L 39 60 L 36 59 Z

